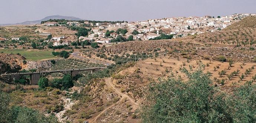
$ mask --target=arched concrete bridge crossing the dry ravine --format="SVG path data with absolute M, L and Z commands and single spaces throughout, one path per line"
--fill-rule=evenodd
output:
M 39 72 L 33 72 L 33 73 L 11 73 L 11 74 L 3 74 L 10 80 L 20 80 L 21 76 L 29 75 L 30 76 L 30 84 L 37 84 L 40 77 L 47 77 L 47 75 L 50 75 L 52 73 L 62 73 L 65 75 L 71 75 L 71 77 L 76 76 L 79 74 L 79 72 L 82 71 L 89 71 L 91 73 L 101 70 L 104 67 L 95 67 L 95 68 L 86 68 L 86 69 L 78 69 L 78 70 L 55 70 L 55 71 L 39 71 Z

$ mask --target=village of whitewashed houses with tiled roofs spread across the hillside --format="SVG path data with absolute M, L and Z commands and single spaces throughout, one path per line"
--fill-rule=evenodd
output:
M 97 42 L 103 45 L 112 45 L 118 41 L 113 41 L 118 36 L 123 37 L 128 41 L 141 41 L 157 39 L 163 35 L 171 35 L 169 38 L 180 38 L 188 35 L 202 34 L 204 32 L 216 32 L 234 22 L 240 21 L 242 18 L 256 14 L 233 14 L 226 16 L 211 17 L 172 17 L 162 19 L 150 19 L 147 21 L 137 22 L 89 22 L 89 21 L 59 21 L 50 20 L 42 22 L 41 25 L 36 25 L 41 28 L 47 27 L 85 27 L 90 29 L 88 35 L 79 36 L 80 41 Z M 38 31 L 38 30 L 37 30 Z M 39 36 L 49 36 L 50 39 L 44 42 L 53 42 L 53 46 L 72 45 L 77 38 L 71 38 L 70 35 L 54 35 L 45 30 L 39 31 Z M 0 38 L 0 41 L 16 40 L 19 37 Z M 160 38 L 161 39 L 161 38 Z M 123 41 L 119 41 L 123 42 Z

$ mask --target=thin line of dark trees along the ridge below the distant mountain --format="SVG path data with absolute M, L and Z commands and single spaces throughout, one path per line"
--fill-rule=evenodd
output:
M 69 21 L 74 21 L 74 20 L 65 20 L 65 19 L 50 19 L 47 21 L 41 21 L 41 24 L 44 24 L 45 22 L 69 22 Z M 79 23 L 84 23 L 84 20 L 79 20 L 77 21 Z M 90 21 L 90 23 L 96 24 L 96 23 L 111 23 L 111 24 L 116 24 L 116 23 L 122 23 L 122 22 L 128 22 L 128 21 Z

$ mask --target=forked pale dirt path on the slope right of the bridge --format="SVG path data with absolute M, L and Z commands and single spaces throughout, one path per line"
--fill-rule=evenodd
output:
M 138 107 L 139 105 L 130 97 L 128 96 L 127 94 L 124 94 L 122 93 L 118 88 L 115 87 L 115 85 L 112 84 L 112 78 L 109 77 L 109 78 L 106 78 L 106 85 L 108 87 L 111 87 L 114 89 L 114 91 L 120 95 L 122 98 L 116 102 L 116 103 L 119 103 L 120 101 L 122 101 L 124 98 L 127 98 L 128 101 L 131 103 L 131 105 L 135 106 L 135 107 Z M 116 104 L 115 103 L 115 104 Z M 101 113 L 99 113 L 99 115 L 97 115 L 94 119 L 93 119 L 93 123 L 96 123 L 96 120 L 98 119 L 99 116 L 101 116 L 106 110 L 108 110 L 109 108 L 113 107 L 115 104 L 111 105 L 111 106 L 108 106 L 106 109 L 102 110 Z

